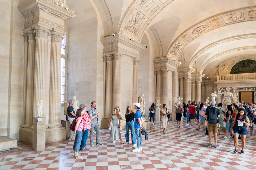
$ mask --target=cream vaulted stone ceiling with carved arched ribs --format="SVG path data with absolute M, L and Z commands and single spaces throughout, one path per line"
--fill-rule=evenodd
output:
M 83 8 L 89 2 L 77 1 L 81 4 L 73 5 L 75 8 Z M 256 54 L 255 0 L 90 0 L 90 3 L 100 16 L 103 37 L 122 33 L 141 42 L 146 32 L 155 57 L 173 58 L 182 62 L 180 68 L 208 74 L 216 64 L 229 58 Z

